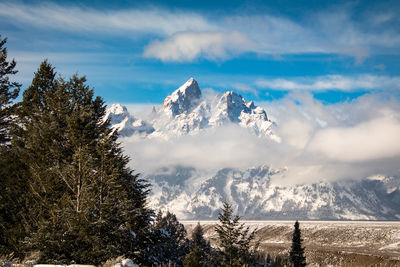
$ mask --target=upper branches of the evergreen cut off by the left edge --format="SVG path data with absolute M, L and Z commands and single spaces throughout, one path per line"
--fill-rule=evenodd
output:
M 20 84 L 10 80 L 17 73 L 15 61 L 7 61 L 7 48 L 4 46 L 7 38 L 0 35 L 0 146 L 10 141 L 10 126 L 13 123 L 14 105 L 12 100 L 17 98 Z

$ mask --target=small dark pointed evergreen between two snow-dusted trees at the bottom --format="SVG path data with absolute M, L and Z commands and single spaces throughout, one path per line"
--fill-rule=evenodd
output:
M 212 247 L 210 243 L 204 239 L 203 228 L 200 223 L 198 223 L 193 229 L 191 250 L 186 256 L 183 266 L 203 267 L 214 265 Z

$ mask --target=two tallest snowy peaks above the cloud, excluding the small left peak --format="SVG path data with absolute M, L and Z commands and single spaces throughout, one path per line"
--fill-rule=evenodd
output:
M 273 134 L 273 123 L 267 113 L 254 102 L 247 103 L 235 92 L 227 91 L 214 99 L 203 99 L 198 83 L 190 78 L 163 102 L 161 112 L 170 120 L 156 122 L 160 135 L 196 134 L 200 130 L 236 123 L 257 136 L 279 138 Z M 157 134 L 155 133 L 155 134 Z

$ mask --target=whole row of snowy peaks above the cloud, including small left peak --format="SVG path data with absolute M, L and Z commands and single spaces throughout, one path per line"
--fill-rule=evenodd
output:
M 274 123 L 268 119 L 263 108 L 252 101 L 247 103 L 232 91 L 219 94 L 214 99 L 204 99 L 193 78 L 167 96 L 161 108 L 153 109 L 150 117 L 148 121 L 136 120 L 120 104 L 112 105 L 106 115 L 111 119 L 112 127 L 118 129 L 122 136 L 139 132 L 150 138 L 169 138 L 194 135 L 207 128 L 234 123 L 257 136 L 280 140 L 273 133 Z

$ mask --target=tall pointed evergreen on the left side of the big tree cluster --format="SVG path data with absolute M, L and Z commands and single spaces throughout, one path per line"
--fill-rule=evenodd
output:
M 57 87 L 54 68 L 44 61 L 24 91 L 23 101 L 17 109 L 18 123 L 13 129 L 13 149 L 26 168 L 25 182 L 29 187 L 26 194 L 30 221 L 28 231 L 35 232 L 38 220 L 47 220 L 49 212 L 57 206 L 65 188 L 58 182 L 55 171 L 65 156 L 63 133 L 66 132 L 65 116 L 52 112 L 55 104 L 63 103 L 59 110 L 67 113 L 67 96 L 54 94 Z M 45 103 L 45 96 L 50 103 Z M 58 99 L 65 98 L 64 101 Z M 58 119 L 56 119 L 58 118 Z M 56 156 L 58 155 L 58 156 Z

